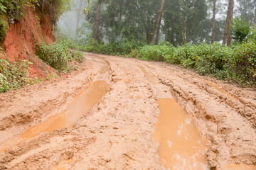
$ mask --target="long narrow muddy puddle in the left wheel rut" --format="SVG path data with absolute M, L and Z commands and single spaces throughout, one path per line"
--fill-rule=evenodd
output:
M 109 87 L 109 84 L 105 81 L 93 82 L 75 98 L 73 103 L 70 103 L 70 106 L 63 113 L 50 116 L 45 122 L 28 128 L 21 137 L 2 145 L 0 152 L 20 144 L 25 139 L 36 137 L 42 132 L 53 132 L 53 130 L 72 128 L 83 115 L 100 101 L 100 98 L 109 91 Z

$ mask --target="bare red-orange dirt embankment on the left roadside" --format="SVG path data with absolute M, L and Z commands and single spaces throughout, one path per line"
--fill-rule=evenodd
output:
M 50 16 L 39 15 L 36 9 L 25 6 L 23 18 L 20 21 L 10 23 L 9 30 L 4 40 L 4 51 L 7 60 L 16 62 L 18 60 L 29 60 L 30 73 L 36 77 L 43 78 L 54 70 L 36 57 L 36 45 L 42 40 L 52 43 L 54 40 L 53 26 Z M 48 72 L 48 73 L 47 73 Z

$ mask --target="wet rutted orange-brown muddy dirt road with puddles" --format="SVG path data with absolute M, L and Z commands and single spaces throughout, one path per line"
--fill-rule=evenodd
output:
M 256 169 L 256 92 L 181 67 L 85 53 L 0 94 L 0 169 Z

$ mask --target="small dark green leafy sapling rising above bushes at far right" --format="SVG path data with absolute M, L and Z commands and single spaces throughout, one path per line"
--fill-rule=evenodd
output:
M 237 17 L 232 26 L 233 39 L 242 42 L 250 34 L 250 21 L 246 22 L 245 18 Z

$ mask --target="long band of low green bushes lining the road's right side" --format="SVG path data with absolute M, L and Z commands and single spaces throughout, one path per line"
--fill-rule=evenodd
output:
M 72 44 L 72 43 L 71 43 Z M 226 47 L 218 42 L 199 45 L 186 44 L 174 47 L 169 42 L 163 45 L 144 45 L 131 42 L 97 43 L 85 46 L 73 45 L 79 50 L 107 55 L 125 55 L 178 64 L 218 79 L 236 81 L 242 85 L 255 86 L 252 75 L 256 74 L 256 41 L 248 39 L 238 45 Z

